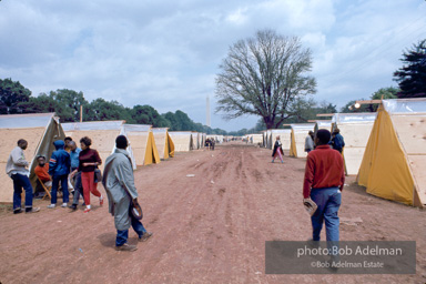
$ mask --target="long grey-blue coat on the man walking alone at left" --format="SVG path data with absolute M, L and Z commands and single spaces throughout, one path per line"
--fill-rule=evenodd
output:
M 106 158 L 102 179 L 108 194 L 109 211 L 114 216 L 116 230 L 124 231 L 131 226 L 130 203 L 138 197 L 134 186 L 133 166 L 129 153 L 122 149 Z

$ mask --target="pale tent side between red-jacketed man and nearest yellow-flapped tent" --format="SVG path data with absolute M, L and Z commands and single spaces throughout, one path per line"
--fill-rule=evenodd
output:
M 336 113 L 333 116 L 333 130 L 338 128 L 345 140 L 343 158 L 348 175 L 358 173 L 376 116 L 375 112 Z

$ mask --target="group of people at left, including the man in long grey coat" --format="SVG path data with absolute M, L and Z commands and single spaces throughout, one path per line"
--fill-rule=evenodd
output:
M 100 205 L 103 204 L 103 196 L 98 190 L 98 183 L 102 182 L 109 197 L 109 212 L 114 216 L 116 227 L 115 250 L 118 251 L 135 251 L 135 245 L 128 244 L 130 226 L 138 233 L 139 241 L 144 242 L 152 236 L 140 217 L 132 214 L 132 207 L 139 206 L 138 191 L 134 185 L 133 168 L 126 148 L 128 139 L 119 135 L 115 140 L 115 152 L 105 161 L 103 179 L 98 170 L 102 160 L 97 150 L 91 149 L 92 141 L 84 136 L 80 140 L 78 148 L 71 138 L 64 141 L 58 140 L 53 142 L 55 151 L 50 156 L 49 163 L 45 163 L 45 156 L 38 156 L 38 165 L 34 173 L 45 186 L 51 186 L 51 204 L 48 209 L 57 206 L 57 194 L 59 184 L 62 187 L 62 205 L 67 207 L 69 203 L 68 183 L 69 179 L 74 183 L 74 197 L 69 206 L 75 211 L 79 204 L 80 195 L 83 195 L 85 203 L 84 213 L 90 212 L 90 193 L 99 197 Z M 13 180 L 13 213 L 23 212 L 21 209 L 22 189 L 26 191 L 26 212 L 36 213 L 40 207 L 32 206 L 33 189 L 29 179 L 29 162 L 24 158 L 23 151 L 27 149 L 28 142 L 23 139 L 18 141 L 18 145 L 11 151 L 6 172 Z

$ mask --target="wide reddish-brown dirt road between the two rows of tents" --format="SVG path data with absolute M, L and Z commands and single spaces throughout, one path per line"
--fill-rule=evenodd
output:
M 179 153 L 135 172 L 154 233 L 135 252 L 114 250 L 108 206 L 0 214 L 0 282 L 6 283 L 425 283 L 426 212 L 381 200 L 353 185 L 343 192 L 347 241 L 417 241 L 416 275 L 265 275 L 265 241 L 306 241 L 301 205 L 303 159 L 271 163 L 271 151 L 242 143 Z M 194 176 L 186 176 L 193 174 Z M 103 189 L 102 189 L 103 192 Z M 93 197 L 93 195 L 92 195 Z M 324 234 L 323 234 L 324 235 Z M 324 237 L 324 236 L 323 236 Z

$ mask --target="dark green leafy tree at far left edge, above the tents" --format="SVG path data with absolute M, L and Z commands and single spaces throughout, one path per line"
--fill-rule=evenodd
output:
M 24 109 L 20 103 L 28 102 L 31 91 L 24 88 L 19 81 L 7 78 L 0 79 L 0 113 L 22 113 Z

